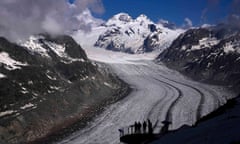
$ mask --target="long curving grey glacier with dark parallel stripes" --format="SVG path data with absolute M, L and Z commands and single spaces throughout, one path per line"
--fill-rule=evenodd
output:
M 164 120 L 172 122 L 170 129 L 193 125 L 233 97 L 222 87 L 191 81 L 164 65 L 155 64 L 151 61 L 154 53 L 128 55 L 96 48 L 85 50 L 90 59 L 107 63 L 133 91 L 60 144 L 120 143 L 119 128 L 146 119 L 157 122 L 156 133 Z

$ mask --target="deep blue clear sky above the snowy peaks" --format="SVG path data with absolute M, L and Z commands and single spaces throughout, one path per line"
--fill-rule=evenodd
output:
M 238 0 L 102 0 L 105 11 L 95 16 L 107 20 L 126 12 L 133 18 L 145 14 L 154 22 L 164 19 L 178 26 L 188 18 L 194 26 L 199 26 L 222 21 L 231 11 L 233 1 Z

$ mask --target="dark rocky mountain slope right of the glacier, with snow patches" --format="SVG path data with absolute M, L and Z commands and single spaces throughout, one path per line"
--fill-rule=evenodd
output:
M 157 60 L 197 80 L 239 87 L 239 30 L 224 24 L 190 29 Z

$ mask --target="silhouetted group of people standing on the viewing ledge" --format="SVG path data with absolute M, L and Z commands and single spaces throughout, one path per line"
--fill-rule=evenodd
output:
M 130 125 L 127 128 L 127 131 L 119 129 L 119 132 L 120 136 L 129 134 L 153 134 L 153 124 L 149 119 L 143 123 L 136 121 L 133 125 Z

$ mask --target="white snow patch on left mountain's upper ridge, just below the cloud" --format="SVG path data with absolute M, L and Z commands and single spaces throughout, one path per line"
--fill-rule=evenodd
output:
M 20 43 L 21 46 L 26 47 L 30 52 L 40 54 L 44 57 L 50 57 L 48 51 L 43 48 L 42 44 L 39 42 L 41 36 L 30 36 L 30 38 L 24 42 Z

